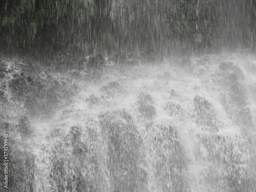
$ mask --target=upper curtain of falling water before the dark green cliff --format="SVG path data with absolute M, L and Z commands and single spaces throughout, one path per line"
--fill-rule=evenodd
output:
M 0 42 L 25 54 L 255 49 L 253 0 L 3 0 Z

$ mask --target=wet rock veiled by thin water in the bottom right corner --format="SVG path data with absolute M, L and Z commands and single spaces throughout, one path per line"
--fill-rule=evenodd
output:
M 250 151 L 249 143 L 237 136 L 231 138 L 222 135 L 199 135 L 198 159 L 210 163 L 205 181 L 212 186 L 226 191 L 253 191 L 254 178 L 248 173 L 247 167 Z

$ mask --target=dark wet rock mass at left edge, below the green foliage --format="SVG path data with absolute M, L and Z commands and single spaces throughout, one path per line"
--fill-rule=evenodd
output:
M 49 117 L 59 100 L 77 91 L 72 79 L 53 77 L 49 71 L 40 73 L 37 64 L 3 63 L 5 77 L 0 81 L 0 103 L 20 102 L 18 110 L 24 111 L 24 115 Z

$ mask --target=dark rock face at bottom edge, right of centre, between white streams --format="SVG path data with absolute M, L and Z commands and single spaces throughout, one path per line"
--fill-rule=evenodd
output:
M 175 127 L 158 125 L 149 128 L 151 150 L 157 159 L 155 178 L 158 191 L 190 191 L 186 183 L 186 154 Z

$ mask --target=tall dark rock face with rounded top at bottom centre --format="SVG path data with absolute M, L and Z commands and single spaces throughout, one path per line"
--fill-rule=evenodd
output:
M 112 191 L 143 191 L 145 173 L 139 167 L 142 141 L 132 117 L 125 111 L 116 111 L 99 118 L 107 137 Z

